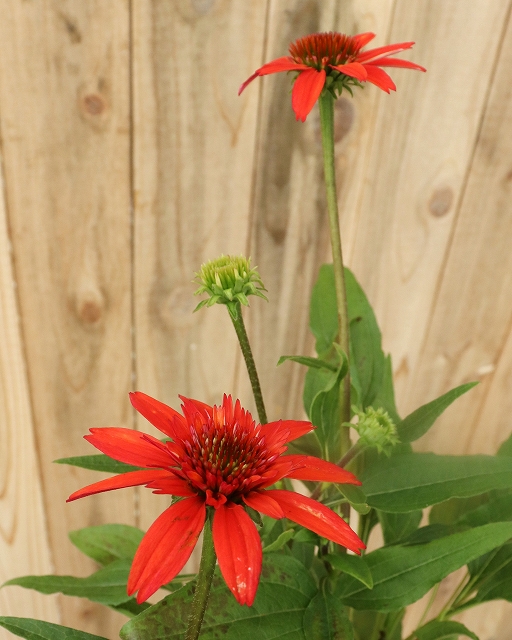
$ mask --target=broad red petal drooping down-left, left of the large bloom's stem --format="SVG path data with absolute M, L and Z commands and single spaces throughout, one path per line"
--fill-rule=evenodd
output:
M 183 568 L 206 518 L 203 498 L 186 498 L 166 509 L 149 528 L 137 549 L 128 577 L 128 595 L 147 600 Z

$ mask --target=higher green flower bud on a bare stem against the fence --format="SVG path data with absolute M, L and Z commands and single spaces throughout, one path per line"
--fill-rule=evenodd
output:
M 228 305 L 230 311 L 238 303 L 249 306 L 248 296 L 254 295 L 267 300 L 266 291 L 256 269 L 251 269 L 251 259 L 244 256 L 220 256 L 201 265 L 196 273 L 199 289 L 195 295 L 207 293 L 194 311 L 201 307 L 211 307 L 216 303 Z

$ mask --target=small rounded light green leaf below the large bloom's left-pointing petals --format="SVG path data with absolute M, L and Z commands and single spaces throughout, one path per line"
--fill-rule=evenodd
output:
M 71 542 L 89 558 L 105 566 L 121 558 L 133 560 L 144 531 L 126 524 L 103 524 L 71 531 Z

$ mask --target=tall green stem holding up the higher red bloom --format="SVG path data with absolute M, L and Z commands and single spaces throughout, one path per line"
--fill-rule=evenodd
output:
M 327 192 L 327 210 L 331 232 L 332 261 L 334 266 L 334 282 L 336 287 L 336 303 L 338 309 L 338 342 L 347 358 L 350 357 L 350 338 L 347 312 L 347 293 L 345 288 L 345 272 L 341 250 L 340 223 L 338 216 L 338 199 L 336 195 L 336 171 L 334 161 L 334 98 L 324 90 L 318 100 L 320 108 L 320 128 L 322 131 L 322 148 L 324 157 L 325 188 Z M 350 369 L 343 378 L 340 393 L 341 422 L 350 421 Z M 341 454 L 350 448 L 348 429 L 341 427 Z

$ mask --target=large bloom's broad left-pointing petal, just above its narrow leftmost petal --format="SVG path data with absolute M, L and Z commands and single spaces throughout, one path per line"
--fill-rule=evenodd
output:
M 147 433 L 124 427 L 100 427 L 84 436 L 96 449 L 114 460 L 139 467 L 163 467 L 174 464 L 170 454 L 162 451 L 162 443 Z

